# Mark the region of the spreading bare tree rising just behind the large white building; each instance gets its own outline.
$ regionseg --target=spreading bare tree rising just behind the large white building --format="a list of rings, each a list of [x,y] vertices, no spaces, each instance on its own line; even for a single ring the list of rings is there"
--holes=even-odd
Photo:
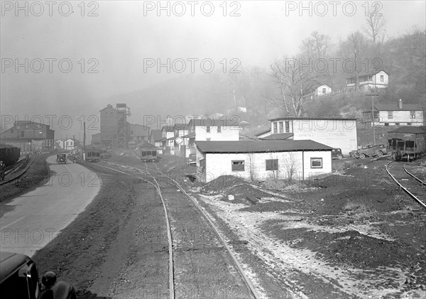
[[[316,75],[312,74],[312,70],[304,70],[295,58],[275,60],[271,70],[271,77],[278,86],[279,96],[264,97],[270,99],[288,115],[300,116],[313,88],[317,85]]]

